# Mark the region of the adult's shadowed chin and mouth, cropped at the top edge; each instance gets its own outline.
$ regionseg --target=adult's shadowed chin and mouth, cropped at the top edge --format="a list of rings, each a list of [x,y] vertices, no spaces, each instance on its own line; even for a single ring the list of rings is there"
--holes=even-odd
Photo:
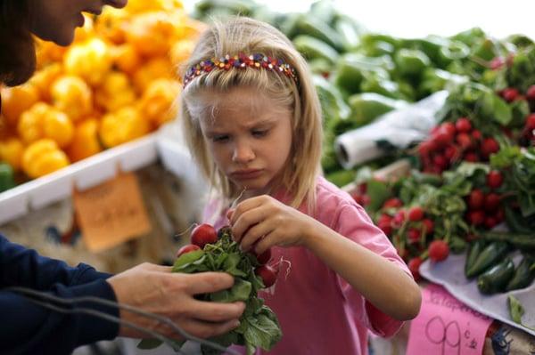
[[[74,39],[74,30],[84,26],[81,12],[99,14],[104,5],[121,8],[127,2],[128,0],[31,0],[30,11],[34,20],[29,29],[41,39],[68,45]]]

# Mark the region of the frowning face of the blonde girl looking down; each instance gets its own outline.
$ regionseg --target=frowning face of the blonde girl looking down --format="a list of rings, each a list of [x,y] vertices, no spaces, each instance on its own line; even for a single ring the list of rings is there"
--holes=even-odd
[[[236,87],[220,93],[217,107],[204,116],[202,134],[219,170],[247,196],[268,193],[290,157],[292,111],[250,87]]]

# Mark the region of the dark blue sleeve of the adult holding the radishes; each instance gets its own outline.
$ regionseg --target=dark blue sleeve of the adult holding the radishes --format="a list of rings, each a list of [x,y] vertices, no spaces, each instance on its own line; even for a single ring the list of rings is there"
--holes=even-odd
[[[72,268],[65,262],[45,258],[0,235],[0,353],[70,354],[80,345],[116,337],[119,326],[115,323],[90,315],[50,311],[3,289],[24,286],[63,298],[95,296],[116,301],[105,280],[108,277],[86,264]],[[78,306],[119,317],[116,307],[95,303]]]

